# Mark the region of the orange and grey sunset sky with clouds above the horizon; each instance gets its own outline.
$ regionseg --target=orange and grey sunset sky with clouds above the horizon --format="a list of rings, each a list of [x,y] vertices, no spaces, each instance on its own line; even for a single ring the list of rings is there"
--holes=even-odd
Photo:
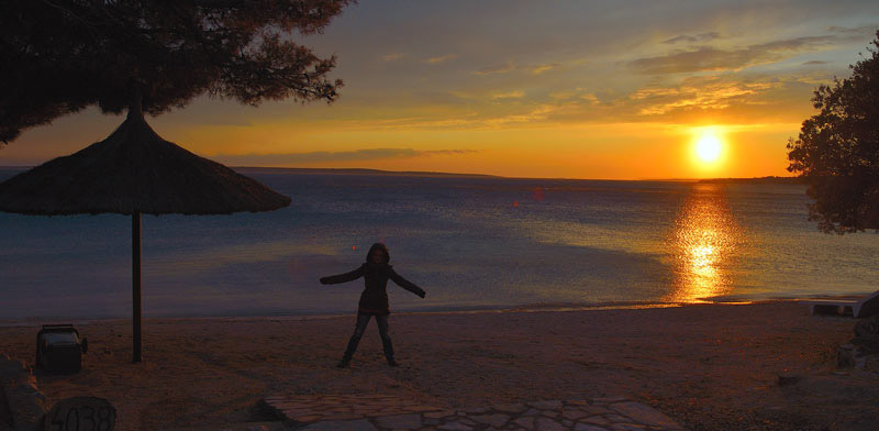
[[[877,30],[875,0],[361,0],[297,36],[337,57],[334,103],[200,97],[147,121],[230,166],[786,176],[812,92]],[[27,130],[0,166],[71,154],[123,119],[92,108]]]

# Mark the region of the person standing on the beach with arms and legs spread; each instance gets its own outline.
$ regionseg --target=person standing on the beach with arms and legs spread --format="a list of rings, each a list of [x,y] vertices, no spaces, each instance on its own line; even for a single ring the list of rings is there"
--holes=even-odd
[[[356,280],[364,277],[364,285],[366,286],[364,292],[360,294],[360,301],[357,306],[357,324],[354,327],[354,334],[348,340],[348,346],[345,349],[345,354],[340,361],[340,368],[345,368],[351,364],[351,358],[354,352],[357,351],[357,344],[366,331],[366,325],[369,323],[369,318],[376,318],[378,324],[378,333],[381,336],[381,346],[385,351],[385,358],[388,360],[388,365],[399,365],[393,360],[393,344],[388,334],[388,316],[390,314],[390,306],[388,305],[388,279],[393,280],[398,286],[407,289],[422,298],[427,292],[418,287],[414,283],[401,277],[393,270],[393,267],[388,264],[391,256],[388,247],[382,243],[375,243],[369,247],[369,253],[366,254],[366,263],[360,265],[357,269],[349,273],[322,277],[321,284],[335,285]]]

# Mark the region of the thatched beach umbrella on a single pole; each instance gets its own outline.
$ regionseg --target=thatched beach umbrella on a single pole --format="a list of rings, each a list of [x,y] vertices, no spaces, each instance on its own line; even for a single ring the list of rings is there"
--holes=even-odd
[[[132,216],[133,361],[141,361],[141,213],[229,214],[290,205],[256,180],[163,140],[138,110],[110,137],[0,184],[0,211]]]

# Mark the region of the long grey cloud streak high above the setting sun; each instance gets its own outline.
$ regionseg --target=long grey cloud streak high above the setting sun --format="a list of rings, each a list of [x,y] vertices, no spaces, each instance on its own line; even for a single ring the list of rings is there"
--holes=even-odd
[[[797,53],[815,51],[838,41],[837,36],[824,35],[775,41],[738,49],[702,46],[668,55],[638,58],[630,62],[628,66],[647,75],[738,70],[748,66],[778,62]]]

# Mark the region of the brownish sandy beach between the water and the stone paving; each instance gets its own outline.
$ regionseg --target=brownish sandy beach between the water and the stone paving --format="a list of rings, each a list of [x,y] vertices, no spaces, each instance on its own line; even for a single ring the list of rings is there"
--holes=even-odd
[[[338,369],[354,314],[147,319],[132,364],[126,320],[80,325],[85,368],[38,376],[48,399],[109,399],[119,429],[270,420],[274,394],[382,394],[448,408],[625,395],[693,430],[868,430],[879,374],[833,374],[855,320],[805,305],[391,314],[400,367],[370,322]],[[0,352],[33,361],[36,327],[0,328]],[[780,387],[778,374],[801,376]]]

